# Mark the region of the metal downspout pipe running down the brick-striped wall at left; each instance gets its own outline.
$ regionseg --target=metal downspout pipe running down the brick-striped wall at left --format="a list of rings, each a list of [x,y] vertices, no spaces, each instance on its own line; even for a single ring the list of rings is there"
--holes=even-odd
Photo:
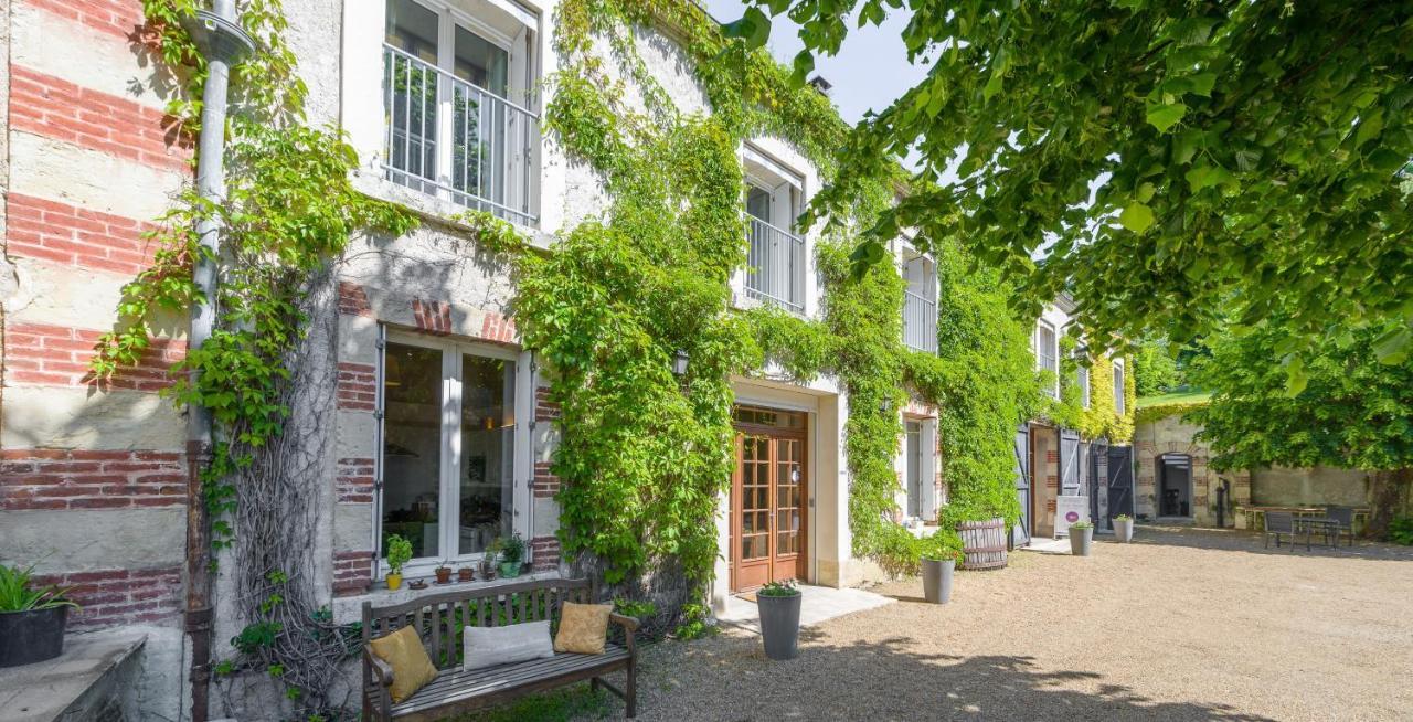
[[[254,49],[254,42],[240,28],[235,0],[213,0],[212,11],[201,10],[187,24],[196,47],[206,57],[206,83],[202,88],[201,141],[196,155],[196,192],[219,206],[226,194],[226,96],[230,66]],[[220,253],[220,222],[202,218],[196,223],[202,253],[192,263],[192,280],[205,302],[191,305],[188,352],[201,349],[215,329],[216,276]],[[201,376],[192,369],[195,387]],[[187,408],[187,600],[184,626],[191,644],[191,719],[206,722],[211,701],[212,571],[211,516],[206,509],[201,472],[211,462],[211,410],[201,404]]]

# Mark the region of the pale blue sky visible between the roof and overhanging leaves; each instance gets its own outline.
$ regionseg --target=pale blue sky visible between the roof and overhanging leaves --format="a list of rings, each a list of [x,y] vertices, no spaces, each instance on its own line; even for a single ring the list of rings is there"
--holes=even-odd
[[[722,23],[736,20],[745,13],[738,0],[705,0],[706,10]],[[897,96],[918,83],[927,73],[926,66],[907,62],[907,48],[903,47],[903,27],[907,16],[890,13],[882,25],[868,25],[853,30],[832,58],[815,57],[817,75],[834,83],[829,97],[849,123],[858,123],[863,112],[883,110]],[[798,25],[786,16],[773,18],[770,30],[770,52],[786,65],[804,47],[797,35]]]

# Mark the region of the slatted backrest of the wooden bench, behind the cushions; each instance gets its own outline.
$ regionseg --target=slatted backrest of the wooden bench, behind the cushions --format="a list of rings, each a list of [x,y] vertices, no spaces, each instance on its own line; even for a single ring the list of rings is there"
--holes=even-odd
[[[411,625],[438,670],[461,664],[463,627],[557,620],[564,602],[593,602],[588,579],[536,579],[428,595],[373,606],[363,602],[363,644]]]

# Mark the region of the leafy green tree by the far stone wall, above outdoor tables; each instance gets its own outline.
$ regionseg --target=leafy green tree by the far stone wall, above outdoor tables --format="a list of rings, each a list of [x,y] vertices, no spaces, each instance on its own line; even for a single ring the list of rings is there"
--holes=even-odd
[[[1304,389],[1287,390],[1280,350],[1290,343],[1283,318],[1242,335],[1221,333],[1212,355],[1188,374],[1212,391],[1188,418],[1202,425],[1217,469],[1340,466],[1376,473],[1375,526],[1406,496],[1413,469],[1413,360],[1379,363],[1373,332],[1330,338],[1301,372]],[[1402,487],[1402,489],[1400,489]],[[1386,499],[1385,499],[1386,496]],[[1383,519],[1378,519],[1378,517]]]

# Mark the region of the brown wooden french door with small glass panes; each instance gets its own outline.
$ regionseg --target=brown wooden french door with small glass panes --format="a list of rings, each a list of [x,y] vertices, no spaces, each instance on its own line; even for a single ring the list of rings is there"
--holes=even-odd
[[[803,579],[807,572],[804,414],[736,413],[731,485],[731,589]]]

